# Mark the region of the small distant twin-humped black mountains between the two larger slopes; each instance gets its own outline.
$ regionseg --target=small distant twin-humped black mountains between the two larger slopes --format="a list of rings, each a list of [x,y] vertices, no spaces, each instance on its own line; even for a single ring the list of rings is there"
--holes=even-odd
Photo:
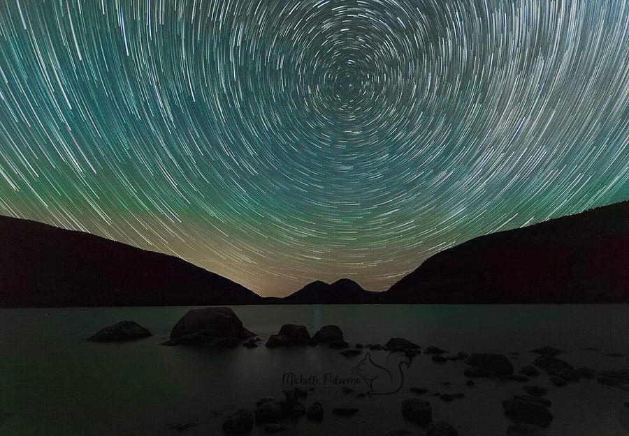
[[[370,303],[377,292],[369,292],[354,280],[342,278],[328,284],[319,280],[308,283],[293,294],[283,299],[276,299],[275,303],[282,304],[350,304]]]

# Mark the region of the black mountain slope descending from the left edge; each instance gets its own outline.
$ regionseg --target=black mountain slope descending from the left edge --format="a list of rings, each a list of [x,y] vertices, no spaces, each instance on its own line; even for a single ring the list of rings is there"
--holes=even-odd
[[[0,216],[0,306],[205,306],[262,300],[178,257]]]

